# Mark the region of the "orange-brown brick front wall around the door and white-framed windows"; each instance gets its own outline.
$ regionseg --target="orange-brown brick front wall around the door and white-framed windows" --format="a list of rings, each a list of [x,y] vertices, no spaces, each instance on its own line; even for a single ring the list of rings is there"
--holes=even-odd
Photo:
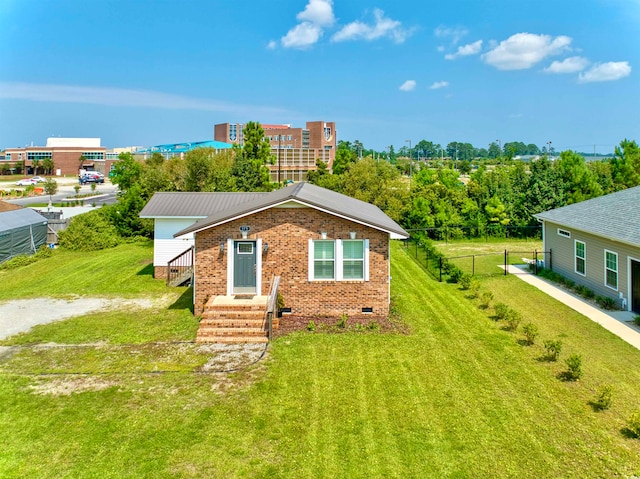
[[[280,293],[293,315],[362,316],[363,307],[373,308],[375,316],[388,314],[387,233],[312,208],[271,208],[196,233],[196,315],[209,297],[227,293],[227,261],[233,252],[226,250],[226,241],[241,239],[242,225],[251,227],[248,239],[269,244],[268,252],[257,252],[262,255],[262,294],[268,294],[272,276],[280,276]],[[309,239],[321,239],[321,231],[327,239],[349,239],[355,231],[358,239],[369,240],[369,281],[309,281]]]

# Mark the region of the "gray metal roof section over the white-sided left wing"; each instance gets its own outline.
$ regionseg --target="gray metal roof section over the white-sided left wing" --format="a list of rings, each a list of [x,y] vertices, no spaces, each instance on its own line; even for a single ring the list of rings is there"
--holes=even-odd
[[[246,203],[267,193],[159,192],[140,212],[141,218],[202,217]]]

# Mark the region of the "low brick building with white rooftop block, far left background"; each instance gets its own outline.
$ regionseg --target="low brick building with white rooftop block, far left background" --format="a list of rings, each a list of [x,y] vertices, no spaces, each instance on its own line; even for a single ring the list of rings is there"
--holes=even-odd
[[[52,174],[75,175],[80,169],[80,157],[84,157],[82,168],[108,173],[113,159],[107,159],[107,149],[100,146],[100,138],[47,138],[46,146],[7,148],[4,162],[15,168],[24,162],[27,173],[33,173],[33,162],[53,161]]]

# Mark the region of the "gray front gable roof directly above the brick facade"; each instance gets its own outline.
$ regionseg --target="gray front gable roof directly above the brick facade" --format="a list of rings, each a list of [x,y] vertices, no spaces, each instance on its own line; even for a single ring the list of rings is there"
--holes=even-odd
[[[398,237],[407,238],[409,236],[398,223],[384,214],[377,206],[336,193],[335,191],[320,188],[310,183],[301,182],[272,191],[271,193],[263,193],[245,203],[212,213],[206,219],[197,221],[192,226],[179,231],[174,237],[226,223],[237,217],[246,216],[288,201],[295,201],[312,208],[324,210],[337,216],[345,217],[351,221],[397,235]]]

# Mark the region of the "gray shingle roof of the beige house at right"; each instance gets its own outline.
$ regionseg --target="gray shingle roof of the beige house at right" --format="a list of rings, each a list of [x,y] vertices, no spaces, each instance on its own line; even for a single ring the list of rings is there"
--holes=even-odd
[[[640,246],[640,186],[534,216],[585,233]]]

